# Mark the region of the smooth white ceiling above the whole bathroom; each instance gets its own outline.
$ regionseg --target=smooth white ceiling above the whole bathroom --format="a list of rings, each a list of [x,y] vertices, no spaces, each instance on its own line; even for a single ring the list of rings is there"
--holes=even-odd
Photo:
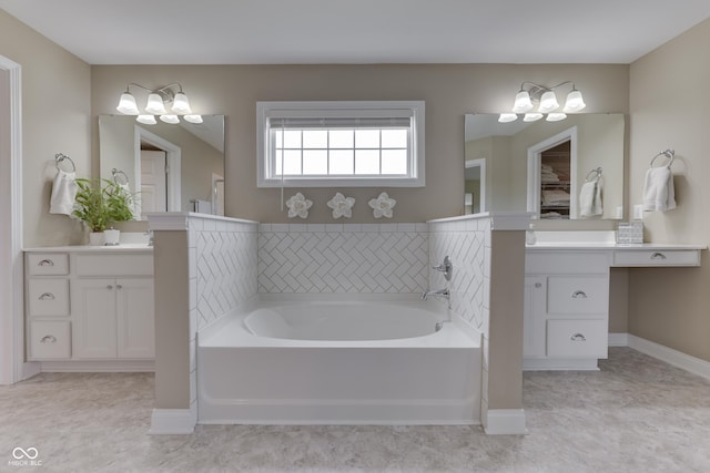
[[[90,64],[622,63],[708,0],[0,0]]]

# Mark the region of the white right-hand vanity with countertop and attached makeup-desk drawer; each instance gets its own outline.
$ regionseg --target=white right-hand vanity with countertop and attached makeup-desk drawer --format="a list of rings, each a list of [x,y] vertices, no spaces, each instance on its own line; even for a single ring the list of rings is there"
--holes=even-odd
[[[570,241],[527,246],[523,368],[596,370],[608,356],[610,268],[700,266],[701,249]]]

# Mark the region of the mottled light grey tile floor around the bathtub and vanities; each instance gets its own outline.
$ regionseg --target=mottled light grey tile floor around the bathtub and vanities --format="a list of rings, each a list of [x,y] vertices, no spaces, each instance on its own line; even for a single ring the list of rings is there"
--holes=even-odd
[[[610,349],[600,372],[525,373],[528,435],[205,425],[156,436],[152,394],[146,373],[0,387],[0,472],[710,472],[710,382],[628,348]],[[13,464],[17,446],[41,465]]]

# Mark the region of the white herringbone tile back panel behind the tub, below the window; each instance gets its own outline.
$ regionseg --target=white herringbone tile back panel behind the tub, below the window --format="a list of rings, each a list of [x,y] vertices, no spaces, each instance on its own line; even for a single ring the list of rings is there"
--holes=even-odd
[[[426,224],[263,224],[260,292],[420,292]]]

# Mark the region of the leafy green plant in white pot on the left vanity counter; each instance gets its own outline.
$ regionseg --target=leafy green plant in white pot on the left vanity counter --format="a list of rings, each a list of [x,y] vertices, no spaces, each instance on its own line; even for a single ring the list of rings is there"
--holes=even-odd
[[[72,215],[89,227],[91,245],[102,245],[103,232],[115,222],[133,219],[133,197],[109,179],[77,179]]]

